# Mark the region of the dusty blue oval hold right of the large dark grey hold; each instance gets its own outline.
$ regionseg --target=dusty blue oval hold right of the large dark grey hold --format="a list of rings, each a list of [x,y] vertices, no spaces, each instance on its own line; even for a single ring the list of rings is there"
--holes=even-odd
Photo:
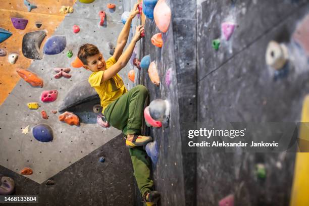
[[[65,36],[52,36],[47,39],[44,45],[44,54],[57,55],[61,53],[67,45],[67,39]]]

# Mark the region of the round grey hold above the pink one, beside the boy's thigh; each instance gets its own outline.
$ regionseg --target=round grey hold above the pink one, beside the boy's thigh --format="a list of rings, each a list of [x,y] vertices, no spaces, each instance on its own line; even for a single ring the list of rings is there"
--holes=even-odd
[[[152,100],[149,105],[149,113],[152,119],[167,123],[170,118],[170,104],[163,99]]]

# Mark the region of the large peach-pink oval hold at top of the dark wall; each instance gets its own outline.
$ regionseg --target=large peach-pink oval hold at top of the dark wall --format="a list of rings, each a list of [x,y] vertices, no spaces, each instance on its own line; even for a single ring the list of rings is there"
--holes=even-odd
[[[153,9],[153,18],[160,31],[164,33],[167,32],[170,26],[171,16],[171,9],[166,4],[165,0],[159,0],[155,9]]]

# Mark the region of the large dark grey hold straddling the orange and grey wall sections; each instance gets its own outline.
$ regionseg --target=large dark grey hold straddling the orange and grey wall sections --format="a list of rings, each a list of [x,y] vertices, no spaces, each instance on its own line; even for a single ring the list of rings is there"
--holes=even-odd
[[[46,32],[43,30],[26,33],[22,43],[23,55],[28,59],[41,60],[43,54],[40,52],[40,46],[45,36]]]

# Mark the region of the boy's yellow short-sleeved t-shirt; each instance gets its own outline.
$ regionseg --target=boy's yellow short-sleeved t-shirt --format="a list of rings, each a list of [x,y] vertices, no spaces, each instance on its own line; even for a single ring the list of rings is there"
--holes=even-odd
[[[109,69],[115,63],[116,60],[112,56],[106,61],[106,68]],[[122,94],[128,91],[119,74],[116,74],[111,79],[100,84],[104,71],[93,72],[88,78],[91,87],[95,89],[100,97],[101,107],[103,108],[102,113],[104,113],[105,109],[112,101],[118,99]]]

